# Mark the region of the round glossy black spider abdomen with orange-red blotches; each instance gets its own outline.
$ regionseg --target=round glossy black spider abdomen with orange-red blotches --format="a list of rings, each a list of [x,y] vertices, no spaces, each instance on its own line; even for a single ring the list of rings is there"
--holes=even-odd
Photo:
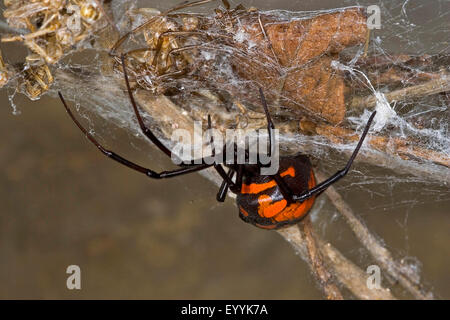
[[[316,185],[311,163],[305,155],[281,157],[279,175],[293,194],[299,195]],[[237,196],[239,217],[263,229],[277,229],[297,223],[311,209],[315,197],[301,203],[288,201],[273,176],[247,176]]]

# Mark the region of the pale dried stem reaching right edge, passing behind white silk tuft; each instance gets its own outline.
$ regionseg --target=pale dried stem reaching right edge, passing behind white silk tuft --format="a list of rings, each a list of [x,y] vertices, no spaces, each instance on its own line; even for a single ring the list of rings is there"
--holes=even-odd
[[[404,101],[425,97],[441,92],[450,91],[450,76],[442,75],[439,79],[433,79],[425,83],[385,93],[388,102]],[[349,109],[362,110],[374,108],[377,104],[375,96],[354,97],[349,104]]]

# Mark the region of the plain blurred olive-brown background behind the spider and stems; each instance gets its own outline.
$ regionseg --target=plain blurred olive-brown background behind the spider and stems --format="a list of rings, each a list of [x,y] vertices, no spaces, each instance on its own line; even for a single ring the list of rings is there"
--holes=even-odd
[[[138,3],[167,9],[177,2]],[[449,13],[446,1],[406,2],[413,8],[428,4],[424,11],[411,11],[416,24]],[[232,5],[239,3],[263,10],[366,5],[322,0]],[[402,3],[395,8],[401,10]],[[17,45],[1,49],[8,61],[24,55]],[[217,203],[211,182],[198,174],[146,179],[102,156],[54,97],[31,102],[18,94],[20,114],[13,115],[8,100],[13,90],[0,91],[0,298],[322,298],[289,244],[275,232],[243,223],[232,199]],[[107,123],[99,126],[107,128],[102,137],[111,149],[153,169],[171,168],[145,141]],[[329,174],[338,169],[326,168]],[[419,268],[436,296],[448,299],[448,186],[400,178],[356,165],[337,187],[395,256]],[[326,196],[317,201],[313,220],[321,236],[363,269],[374,264]],[[81,267],[81,290],[66,288],[72,264]]]

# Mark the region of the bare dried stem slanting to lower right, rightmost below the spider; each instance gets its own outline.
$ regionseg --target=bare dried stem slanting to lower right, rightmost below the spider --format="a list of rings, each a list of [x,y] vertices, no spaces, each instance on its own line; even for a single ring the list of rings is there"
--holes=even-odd
[[[316,171],[316,176],[319,180],[324,180],[326,177],[321,172]],[[386,270],[395,280],[408,290],[416,299],[432,299],[433,294],[431,292],[425,292],[420,283],[411,279],[411,276],[405,273],[406,268],[395,261],[392,254],[386,247],[369,231],[369,229],[355,216],[353,210],[348,206],[340,194],[334,187],[329,187],[325,194],[331,200],[333,205],[344,216],[346,222],[358,238],[358,240],[364,245],[364,247],[370,252],[372,257]],[[418,278],[417,275],[414,275]]]

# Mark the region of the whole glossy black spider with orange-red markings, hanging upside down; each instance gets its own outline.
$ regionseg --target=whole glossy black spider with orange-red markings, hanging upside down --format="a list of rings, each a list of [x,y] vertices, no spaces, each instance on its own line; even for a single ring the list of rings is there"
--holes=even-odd
[[[163,153],[171,157],[171,151],[164,146],[164,144],[162,144],[162,142],[144,124],[130,87],[125,66],[125,59],[123,56],[122,66],[129,99],[143,134]],[[279,158],[278,172],[274,175],[261,175],[260,169],[263,165],[259,163],[236,164],[236,161],[232,164],[224,163],[224,166],[228,168],[228,172],[225,172],[222,164],[206,162],[206,158],[202,159],[201,164],[194,164],[194,161],[191,161],[191,163],[188,164],[181,164],[181,168],[176,170],[155,172],[151,169],[131,162],[113,151],[105,149],[74,117],[62,94],[58,92],[58,95],[64,104],[67,113],[78,128],[107,157],[153,179],[177,177],[213,167],[223,179],[222,185],[217,193],[217,200],[220,202],[225,201],[225,197],[229,189],[237,195],[236,201],[239,208],[239,217],[245,222],[251,223],[263,229],[277,229],[283,226],[295,224],[306,216],[314,204],[315,198],[330,185],[343,178],[350,170],[353,160],[358,154],[376,114],[376,112],[373,112],[370,116],[361,138],[347,162],[347,165],[343,169],[337,171],[330,178],[316,185],[311,162],[309,161],[309,158],[303,154],[281,156]],[[275,129],[275,126],[270,117],[267,103],[261,89],[260,95],[268,124],[267,130],[270,141],[269,152],[272,152],[273,130]],[[209,116],[208,127],[209,129],[211,128],[211,118]],[[212,139],[211,142],[213,142]],[[236,157],[235,143],[234,152],[234,156]],[[215,155],[214,149],[212,150],[212,154],[213,156]],[[233,180],[235,173],[236,178]]]

